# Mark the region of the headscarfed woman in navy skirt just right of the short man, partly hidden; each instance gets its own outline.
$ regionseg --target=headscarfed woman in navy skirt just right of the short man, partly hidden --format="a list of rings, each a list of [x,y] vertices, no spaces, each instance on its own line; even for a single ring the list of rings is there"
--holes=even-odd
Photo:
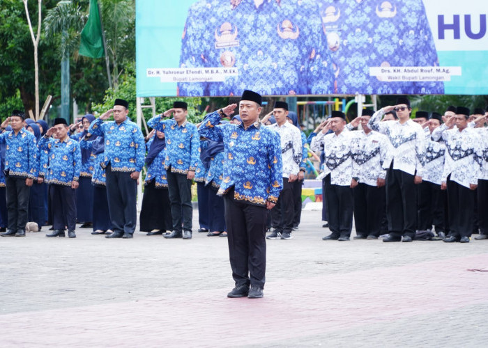
[[[87,113],[82,118],[83,132],[71,136],[76,141],[81,141],[88,133],[91,122],[95,120],[95,116]],[[71,130],[71,129],[70,129]],[[95,139],[91,138],[91,141]],[[77,221],[82,223],[81,228],[93,227],[93,189],[91,188],[91,177],[93,176],[93,157],[91,157],[91,149],[82,148],[82,172],[79,175],[79,187],[76,190],[76,212]]]

